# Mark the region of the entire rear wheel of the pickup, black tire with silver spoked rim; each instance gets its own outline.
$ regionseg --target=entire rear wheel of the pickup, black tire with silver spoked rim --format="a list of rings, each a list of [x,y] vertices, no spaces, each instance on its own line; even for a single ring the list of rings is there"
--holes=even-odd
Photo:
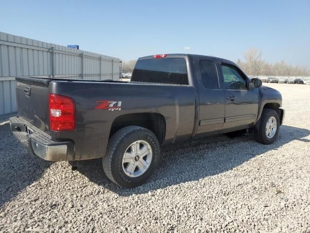
[[[135,149],[137,152],[131,149],[132,145],[138,145]],[[141,151],[145,152],[147,149],[147,155],[140,157],[140,154],[143,154]],[[124,157],[125,152],[127,157]],[[128,157],[129,154],[131,157]],[[123,159],[130,162],[124,163]],[[141,159],[145,160],[145,163]],[[132,188],[146,182],[153,174],[159,161],[160,145],[155,134],[140,126],[126,126],[109,139],[102,164],[104,172],[111,181],[122,187]],[[129,165],[131,168],[133,166],[135,168],[132,170],[128,168]]]

